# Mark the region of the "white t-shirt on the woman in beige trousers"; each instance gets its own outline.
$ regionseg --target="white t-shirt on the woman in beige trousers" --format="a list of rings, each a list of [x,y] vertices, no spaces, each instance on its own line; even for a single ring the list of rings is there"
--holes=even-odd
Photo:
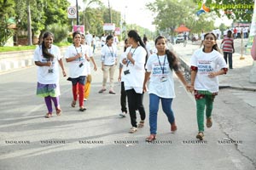
[[[117,58],[117,48],[115,46],[109,47],[105,44],[102,47],[102,62],[104,65],[114,65]]]

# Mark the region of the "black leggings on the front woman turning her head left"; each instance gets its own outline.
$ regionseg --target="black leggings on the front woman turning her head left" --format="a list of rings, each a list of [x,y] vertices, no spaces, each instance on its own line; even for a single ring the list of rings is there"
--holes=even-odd
[[[133,88],[131,90],[126,90],[126,94],[128,98],[131,126],[137,127],[136,110],[139,111],[142,121],[144,121],[146,118],[146,113],[143,106],[143,94],[137,94]]]

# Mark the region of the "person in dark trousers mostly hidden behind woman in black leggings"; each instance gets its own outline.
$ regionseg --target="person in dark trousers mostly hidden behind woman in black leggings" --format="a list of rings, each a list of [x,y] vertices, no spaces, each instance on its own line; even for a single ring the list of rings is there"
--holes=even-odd
[[[126,107],[126,92],[125,92],[125,77],[123,70],[125,69],[125,65],[122,64],[122,59],[125,58],[125,51],[126,48],[130,47],[130,44],[128,43],[128,39],[125,39],[125,47],[124,47],[124,53],[120,57],[119,61],[119,78],[118,81],[121,82],[121,95],[120,95],[120,105],[121,105],[121,113],[119,116],[125,117],[127,114],[127,107]],[[126,70],[126,69],[125,69]]]

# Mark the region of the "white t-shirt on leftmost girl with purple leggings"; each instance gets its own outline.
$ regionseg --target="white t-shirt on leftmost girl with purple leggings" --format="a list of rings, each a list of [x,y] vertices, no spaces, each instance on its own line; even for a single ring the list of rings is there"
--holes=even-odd
[[[38,82],[42,84],[55,84],[59,83],[59,63],[61,57],[60,48],[55,45],[51,45],[51,48],[48,50],[50,54],[53,54],[55,57],[52,60],[51,66],[38,66]],[[42,46],[38,46],[34,52],[34,61],[40,61],[46,63],[48,59],[43,57]]]

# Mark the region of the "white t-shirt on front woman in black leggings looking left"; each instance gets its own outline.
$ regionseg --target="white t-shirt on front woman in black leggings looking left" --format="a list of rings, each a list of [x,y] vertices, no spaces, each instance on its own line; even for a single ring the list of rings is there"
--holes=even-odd
[[[125,90],[134,88],[137,94],[143,94],[143,82],[145,77],[144,65],[147,52],[142,46],[138,46],[137,48],[129,47],[125,51],[124,58],[126,58],[127,54],[130,52],[132,58],[135,60],[135,64],[133,65],[128,61],[128,66],[126,65],[126,68],[123,69],[123,71],[129,70],[130,72],[130,74],[124,75]]]

